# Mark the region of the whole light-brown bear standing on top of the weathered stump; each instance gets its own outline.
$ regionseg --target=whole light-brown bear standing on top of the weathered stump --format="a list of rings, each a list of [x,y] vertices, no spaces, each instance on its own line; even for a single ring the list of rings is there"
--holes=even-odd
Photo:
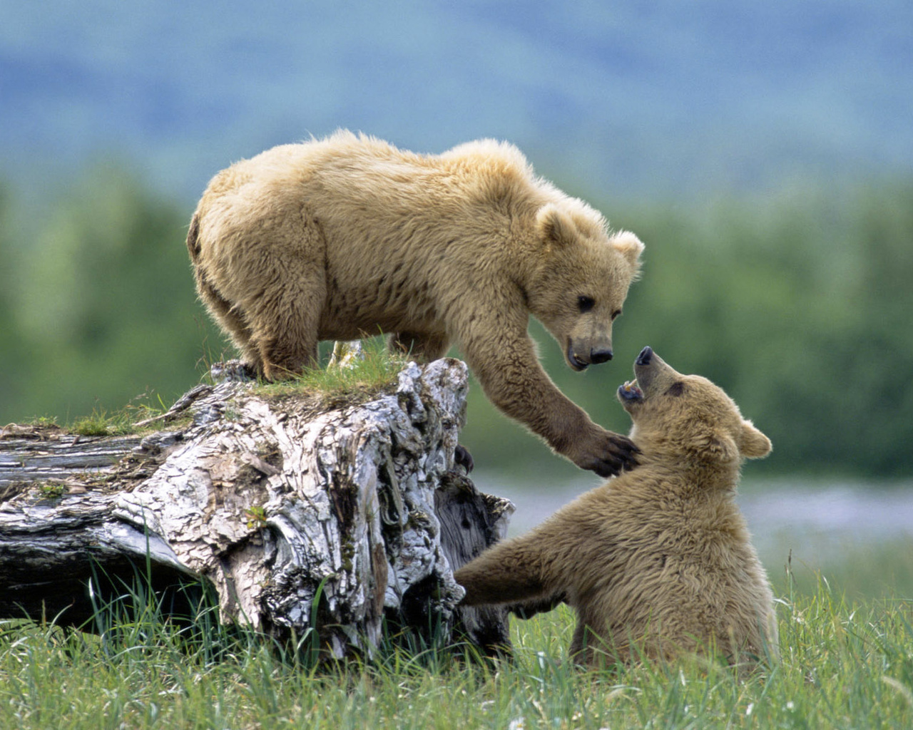
[[[572,370],[612,359],[643,243],[538,177],[507,142],[438,155],[339,130],[218,172],[187,235],[197,292],[267,380],[318,342],[390,333],[419,361],[461,350],[488,399],[602,476],[636,463],[551,382],[530,316]]]

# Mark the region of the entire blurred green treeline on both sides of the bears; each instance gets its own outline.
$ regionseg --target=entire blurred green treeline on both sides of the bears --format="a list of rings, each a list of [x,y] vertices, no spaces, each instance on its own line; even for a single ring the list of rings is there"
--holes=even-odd
[[[169,404],[232,354],[194,297],[194,201],[164,200],[118,166],[25,212],[3,190],[0,424],[63,423],[136,396]],[[771,437],[774,454],[752,469],[913,474],[913,181],[699,205],[575,192],[646,244],[613,362],[572,373],[531,328],[552,378],[594,420],[627,430],[614,391],[648,344],[718,382]],[[477,464],[576,473],[477,386],[463,440]]]

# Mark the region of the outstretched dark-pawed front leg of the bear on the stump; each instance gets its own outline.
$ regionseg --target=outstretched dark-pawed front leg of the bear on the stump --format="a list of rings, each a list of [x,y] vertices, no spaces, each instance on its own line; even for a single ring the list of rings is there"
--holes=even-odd
[[[637,464],[633,442],[593,423],[555,387],[525,333],[497,346],[470,340],[464,350],[488,399],[580,468],[611,476]]]

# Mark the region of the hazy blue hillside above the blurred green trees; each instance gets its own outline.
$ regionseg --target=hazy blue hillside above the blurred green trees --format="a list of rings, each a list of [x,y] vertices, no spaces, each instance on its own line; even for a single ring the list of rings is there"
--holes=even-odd
[[[576,192],[687,197],[913,170],[913,4],[0,5],[0,178],[100,154],[192,200],[337,127],[492,136]]]

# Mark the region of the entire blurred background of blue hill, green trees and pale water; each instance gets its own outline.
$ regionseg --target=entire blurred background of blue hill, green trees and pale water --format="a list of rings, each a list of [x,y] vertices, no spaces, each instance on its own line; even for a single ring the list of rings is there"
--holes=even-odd
[[[774,443],[740,497],[771,575],[913,595],[911,68],[907,0],[5,3],[0,424],[167,405],[234,355],[184,246],[230,162],[495,137],[646,244],[611,363],[532,325],[561,390],[626,432],[643,346],[708,376]],[[463,439],[515,531],[599,482],[477,386]]]

